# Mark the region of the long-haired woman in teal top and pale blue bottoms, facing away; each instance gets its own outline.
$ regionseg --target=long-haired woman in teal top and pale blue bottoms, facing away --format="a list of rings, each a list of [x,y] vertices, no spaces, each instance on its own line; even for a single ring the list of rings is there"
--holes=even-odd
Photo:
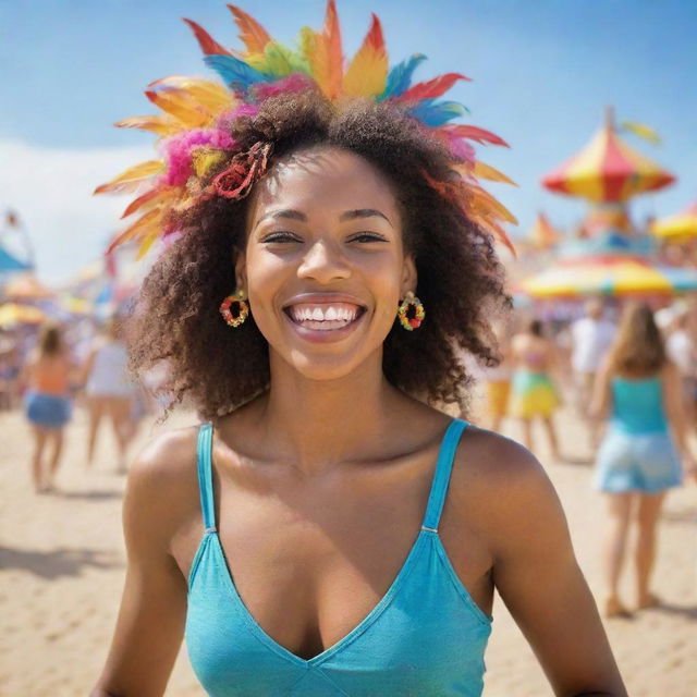
[[[608,508],[603,611],[607,617],[631,616],[617,588],[632,518],[638,527],[635,570],[636,608],[640,610],[660,602],[650,590],[657,523],[667,490],[683,482],[681,456],[697,480],[686,438],[680,372],[667,358],[648,305],[625,307],[617,335],[596,377],[590,414],[595,419],[609,417],[592,479],[592,486],[607,497]]]

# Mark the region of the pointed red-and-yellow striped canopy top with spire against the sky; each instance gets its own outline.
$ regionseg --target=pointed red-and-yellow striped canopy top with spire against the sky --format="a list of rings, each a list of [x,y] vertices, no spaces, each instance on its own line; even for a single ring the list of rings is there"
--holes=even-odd
[[[606,125],[577,155],[542,179],[553,192],[582,196],[594,203],[622,203],[657,191],[675,178],[629,148],[614,130],[612,111]]]

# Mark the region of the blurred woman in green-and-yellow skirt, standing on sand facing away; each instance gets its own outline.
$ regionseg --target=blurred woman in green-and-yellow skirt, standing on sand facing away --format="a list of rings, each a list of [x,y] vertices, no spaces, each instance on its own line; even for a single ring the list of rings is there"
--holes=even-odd
[[[539,417],[549,438],[552,457],[559,460],[561,454],[552,415],[561,399],[550,372],[558,370],[560,358],[557,346],[545,335],[541,320],[533,319],[525,331],[513,337],[511,353],[514,365],[511,415],[521,420],[523,443],[534,451],[533,419]]]

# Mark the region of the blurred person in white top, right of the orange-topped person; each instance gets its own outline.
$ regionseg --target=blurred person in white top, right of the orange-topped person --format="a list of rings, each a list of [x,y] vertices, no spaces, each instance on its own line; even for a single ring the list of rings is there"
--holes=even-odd
[[[109,319],[93,342],[83,367],[83,382],[89,413],[87,466],[94,462],[99,426],[108,417],[117,438],[117,472],[123,474],[127,448],[136,430],[132,419],[135,384],[129,374],[129,353],[121,340],[119,322],[117,317]]]

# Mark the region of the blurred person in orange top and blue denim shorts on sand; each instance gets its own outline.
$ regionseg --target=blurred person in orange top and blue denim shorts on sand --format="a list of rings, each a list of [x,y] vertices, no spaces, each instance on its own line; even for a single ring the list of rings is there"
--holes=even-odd
[[[36,348],[19,376],[21,389],[25,390],[25,415],[34,437],[32,477],[37,493],[54,490],[63,451],[63,430],[72,416],[70,380],[73,369],[61,329],[57,325],[45,325]],[[45,464],[47,447],[52,452],[48,464]]]

